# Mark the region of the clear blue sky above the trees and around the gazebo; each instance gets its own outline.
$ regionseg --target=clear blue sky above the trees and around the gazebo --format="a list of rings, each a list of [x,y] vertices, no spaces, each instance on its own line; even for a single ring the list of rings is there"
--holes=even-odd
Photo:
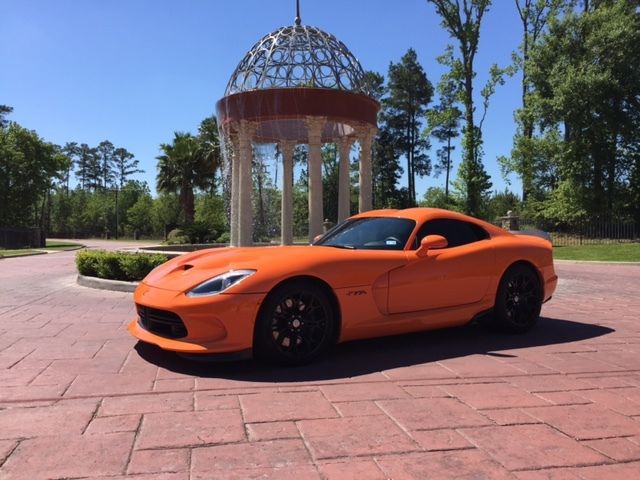
[[[426,0],[302,0],[301,16],[385,76],[389,62],[413,47],[434,85],[442,73],[435,58],[453,42]],[[0,104],[48,141],[108,139],[127,148],[146,171],[138,178],[154,190],[158,145],[176,130],[195,132],[246,51],[294,17],[293,0],[0,0]],[[509,63],[519,41],[514,2],[494,0],[481,31],[476,92],[489,66]],[[511,150],[519,102],[518,74],[498,89],[485,121],[484,162],[498,190],[505,181],[496,157]],[[458,163],[459,148],[454,155]],[[443,182],[418,181],[418,196]]]

